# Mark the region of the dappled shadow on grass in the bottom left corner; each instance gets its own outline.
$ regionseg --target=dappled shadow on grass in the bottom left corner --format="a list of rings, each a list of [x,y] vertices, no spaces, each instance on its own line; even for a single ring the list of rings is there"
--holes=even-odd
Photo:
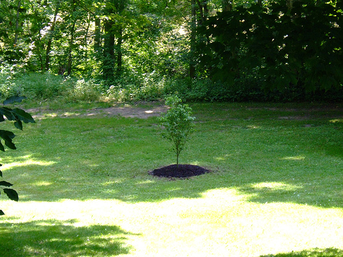
[[[113,256],[128,254],[129,232],[113,225],[74,226],[75,220],[0,223],[0,256]]]

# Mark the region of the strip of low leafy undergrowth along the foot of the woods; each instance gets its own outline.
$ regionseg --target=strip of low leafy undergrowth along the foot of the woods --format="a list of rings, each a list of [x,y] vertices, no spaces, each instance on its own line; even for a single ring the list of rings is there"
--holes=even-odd
[[[0,71],[0,97],[25,96],[29,100],[58,99],[71,101],[157,101],[178,94],[185,101],[343,101],[343,87],[325,92],[306,92],[301,87],[289,86],[283,90],[262,88],[261,79],[245,76],[232,85],[210,79],[167,77],[154,73],[124,74],[112,85],[82,77],[62,77],[51,73],[22,73],[15,66],[3,66]]]

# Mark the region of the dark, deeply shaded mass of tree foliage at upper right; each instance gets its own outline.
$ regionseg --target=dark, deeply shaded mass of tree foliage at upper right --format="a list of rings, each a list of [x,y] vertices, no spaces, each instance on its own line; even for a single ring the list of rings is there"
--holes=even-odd
[[[234,84],[254,74],[264,88],[340,88],[342,3],[283,1],[218,12],[202,29],[200,63],[213,78]]]

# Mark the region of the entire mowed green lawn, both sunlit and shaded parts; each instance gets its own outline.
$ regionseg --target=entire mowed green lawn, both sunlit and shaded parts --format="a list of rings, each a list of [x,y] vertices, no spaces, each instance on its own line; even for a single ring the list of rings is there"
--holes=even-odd
[[[191,107],[180,162],[212,172],[185,180],[148,174],[176,161],[156,117],[51,110],[16,131],[0,256],[343,256],[342,105]]]

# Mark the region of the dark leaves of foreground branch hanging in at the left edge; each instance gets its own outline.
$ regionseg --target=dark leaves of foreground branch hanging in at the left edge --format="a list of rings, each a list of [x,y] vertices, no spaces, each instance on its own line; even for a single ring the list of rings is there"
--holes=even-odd
[[[15,101],[21,101],[23,97],[10,97],[6,99],[3,104],[8,103],[14,103]],[[19,130],[23,130],[23,122],[24,123],[34,123],[34,119],[32,118],[31,114],[25,112],[25,110],[21,110],[18,108],[7,108],[7,107],[1,107],[0,108],[0,122],[5,121],[5,118],[8,121],[14,121],[14,127],[16,127]],[[8,130],[0,130],[0,150],[5,151],[5,147],[3,145],[3,142],[5,145],[10,149],[16,149],[16,146],[12,142],[12,139],[14,138],[14,133],[10,132]],[[0,164],[2,166],[2,164]],[[2,172],[0,171],[0,177],[2,177]],[[3,190],[3,193],[8,196],[13,201],[18,201],[19,196],[18,193],[12,188],[13,186],[10,182],[7,181],[0,181],[0,188]],[[1,191],[0,191],[1,195]],[[0,215],[4,215],[5,213],[0,210]]]

